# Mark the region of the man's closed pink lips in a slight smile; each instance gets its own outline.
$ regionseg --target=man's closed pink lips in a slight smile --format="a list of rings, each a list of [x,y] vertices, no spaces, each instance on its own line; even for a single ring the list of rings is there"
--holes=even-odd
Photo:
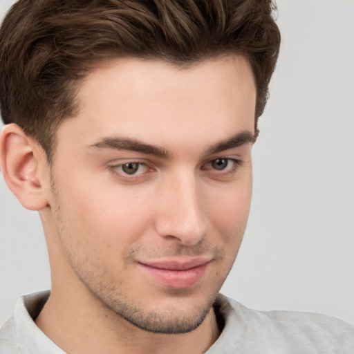
[[[190,288],[203,278],[210,259],[165,260],[138,263],[151,277],[169,288]]]

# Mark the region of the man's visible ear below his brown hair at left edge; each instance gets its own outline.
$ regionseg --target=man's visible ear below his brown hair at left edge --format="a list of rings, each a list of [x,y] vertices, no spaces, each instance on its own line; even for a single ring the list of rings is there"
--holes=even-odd
[[[3,127],[0,135],[3,177],[26,209],[48,206],[46,192],[50,180],[46,154],[17,124]]]

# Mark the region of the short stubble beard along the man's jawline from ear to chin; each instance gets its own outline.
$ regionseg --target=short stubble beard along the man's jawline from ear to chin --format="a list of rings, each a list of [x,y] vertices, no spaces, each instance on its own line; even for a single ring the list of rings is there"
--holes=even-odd
[[[109,312],[118,315],[120,319],[129,322],[129,324],[133,324],[133,326],[150,333],[169,335],[188,333],[195,330],[203,323],[205,317],[212,309],[218,291],[232,268],[236,254],[230,264],[230,268],[227,272],[224,271],[225,276],[221,279],[219,277],[217,283],[211,284],[214,291],[209,292],[203,304],[199,303],[198,307],[194,308],[192,313],[189,311],[188,314],[185,314],[183,311],[179,311],[173,306],[161,311],[147,311],[144,308],[143,302],[134,304],[127,294],[124,294],[124,289],[121,288],[122,284],[116,284],[113,277],[110,277],[109,272],[104,271],[99,257],[92,257],[92,254],[89,254],[89,252],[84,254],[81,247],[82,245],[74,244],[73,239],[75,238],[71,237],[70,223],[66,223],[66,220],[62,216],[58,203],[57,189],[55,189],[54,183],[52,190],[56,201],[53,214],[55,215],[57,232],[62,239],[62,248],[66,253],[68,263],[71,265],[76,277],[84,284],[88,292],[100,302],[101,306],[109,310]],[[205,249],[205,247],[201,246],[200,250],[194,253],[203,254],[204,251],[202,249]],[[217,257],[223,257],[223,250],[216,251],[216,258]],[[218,276],[218,274],[216,274],[216,276]],[[137,289],[137,291],[139,291],[139,289]],[[188,292],[193,292],[193,290],[171,289],[170,292],[171,297],[178,298],[184,297]]]

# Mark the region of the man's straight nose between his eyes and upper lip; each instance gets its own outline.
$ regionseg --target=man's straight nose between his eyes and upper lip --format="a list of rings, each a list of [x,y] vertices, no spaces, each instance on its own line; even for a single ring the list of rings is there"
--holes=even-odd
[[[160,186],[161,187],[161,186]],[[180,173],[164,183],[158,192],[156,230],[167,239],[195,245],[205,237],[207,218],[201,187],[193,173]]]

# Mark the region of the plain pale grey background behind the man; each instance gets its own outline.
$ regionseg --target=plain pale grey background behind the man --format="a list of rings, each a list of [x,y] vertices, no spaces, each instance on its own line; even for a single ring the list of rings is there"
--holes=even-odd
[[[13,1],[0,0],[0,16]],[[354,1],[280,0],[283,42],[254,146],[248,230],[223,292],[354,323]],[[50,287],[39,216],[0,176],[0,325]]]

